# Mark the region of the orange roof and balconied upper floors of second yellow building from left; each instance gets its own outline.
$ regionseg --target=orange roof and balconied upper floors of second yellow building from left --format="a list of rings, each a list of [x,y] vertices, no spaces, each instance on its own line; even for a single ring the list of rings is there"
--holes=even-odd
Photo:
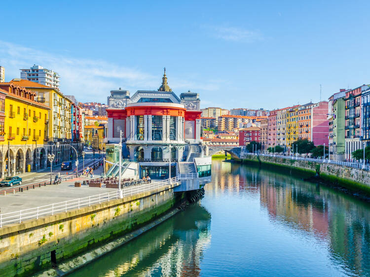
[[[23,79],[13,79],[11,82],[35,92],[37,102],[51,108],[48,140],[70,142],[72,138],[72,101],[57,88]]]

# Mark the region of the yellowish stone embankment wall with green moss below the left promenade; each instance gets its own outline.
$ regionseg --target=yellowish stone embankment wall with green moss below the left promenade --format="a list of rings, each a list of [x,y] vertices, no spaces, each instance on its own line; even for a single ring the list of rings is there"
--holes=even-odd
[[[174,185],[167,185],[123,199],[3,226],[0,276],[30,276],[52,265],[57,273],[58,265],[75,255],[138,230],[171,211],[185,198],[185,193],[174,193],[173,188]],[[74,264],[69,263],[68,267],[71,270]]]

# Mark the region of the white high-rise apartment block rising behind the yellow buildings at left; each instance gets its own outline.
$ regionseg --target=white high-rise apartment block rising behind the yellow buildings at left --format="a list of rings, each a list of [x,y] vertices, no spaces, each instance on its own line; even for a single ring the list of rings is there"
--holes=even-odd
[[[44,86],[59,89],[59,74],[50,69],[34,65],[30,69],[21,70],[21,79],[33,81]]]

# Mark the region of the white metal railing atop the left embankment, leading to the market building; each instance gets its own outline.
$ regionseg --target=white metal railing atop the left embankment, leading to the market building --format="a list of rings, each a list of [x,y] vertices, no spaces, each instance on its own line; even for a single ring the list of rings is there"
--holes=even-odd
[[[164,185],[176,183],[182,179],[195,179],[198,178],[198,173],[180,174],[171,179],[163,181],[152,182],[148,184],[135,185],[125,187],[122,189],[123,197],[135,195],[140,192],[149,191],[152,189],[163,187]],[[101,204],[106,201],[119,198],[119,190],[101,193],[97,195],[87,196],[83,198],[77,198],[59,203],[53,203],[45,206],[39,206],[36,208],[23,209],[19,211],[13,211],[8,213],[0,214],[0,228],[6,224],[21,223],[27,219],[38,219],[41,216],[53,215],[58,212],[66,212],[71,209],[88,207],[93,204]]]

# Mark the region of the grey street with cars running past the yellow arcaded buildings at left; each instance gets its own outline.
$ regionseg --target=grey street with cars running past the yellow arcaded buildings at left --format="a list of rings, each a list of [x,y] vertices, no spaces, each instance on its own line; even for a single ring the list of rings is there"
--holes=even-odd
[[[85,150],[85,167],[90,166],[94,163],[93,152],[91,150]],[[103,154],[95,153],[95,162],[99,161],[100,158],[103,158]],[[73,161],[73,167],[70,171],[61,171],[61,166],[55,166],[52,169],[52,180],[54,180],[56,174],[60,174],[60,176],[67,177],[75,174],[75,161]],[[80,157],[78,159],[78,172],[81,172],[83,169],[83,159]],[[23,187],[29,184],[40,183],[40,182],[50,182],[50,168],[43,169],[39,172],[30,172],[30,173],[23,173],[19,174],[19,177],[22,178],[22,185],[21,186],[14,186],[14,187]],[[0,187],[0,194],[1,191],[9,189],[9,187]]]

